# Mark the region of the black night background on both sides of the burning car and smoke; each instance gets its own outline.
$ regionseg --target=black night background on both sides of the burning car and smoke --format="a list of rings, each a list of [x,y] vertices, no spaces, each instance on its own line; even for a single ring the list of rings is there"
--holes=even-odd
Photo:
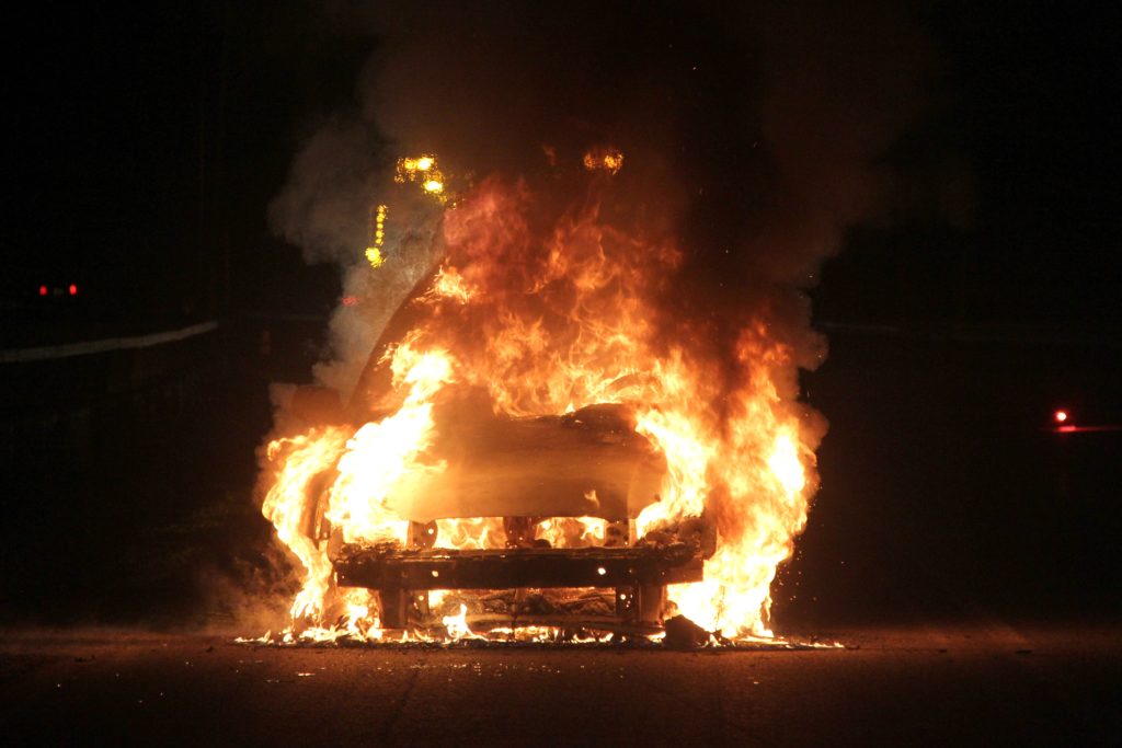
[[[1118,612],[1122,434],[1049,431],[1057,407],[1122,424],[1118,24],[976,4],[914,11],[937,105],[881,157],[905,187],[888,215],[850,229],[811,292],[831,352],[803,384],[831,426],[780,629]],[[377,39],[316,3],[13,28],[2,348],[222,325],[0,363],[0,621],[229,618],[274,581],[251,500],[267,385],[309,378],[340,293],[270,234],[267,204],[355,107]],[[947,154],[964,221],[935,207]]]

